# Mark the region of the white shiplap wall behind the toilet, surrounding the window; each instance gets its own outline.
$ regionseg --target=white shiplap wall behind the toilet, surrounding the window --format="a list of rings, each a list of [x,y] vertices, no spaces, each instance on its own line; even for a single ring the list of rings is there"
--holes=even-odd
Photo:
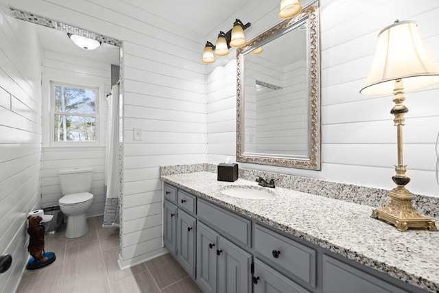
[[[49,143],[50,82],[99,88],[99,146],[51,147]],[[104,165],[107,122],[106,95],[111,91],[111,65],[54,51],[43,51],[43,207],[58,205],[62,197],[58,171],[71,167],[93,167],[93,204],[87,215],[102,215],[105,207]]]

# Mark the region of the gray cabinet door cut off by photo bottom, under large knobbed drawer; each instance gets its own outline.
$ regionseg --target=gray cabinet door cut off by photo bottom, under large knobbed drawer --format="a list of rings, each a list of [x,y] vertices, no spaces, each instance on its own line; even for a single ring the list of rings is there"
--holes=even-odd
[[[254,293],[309,293],[259,259],[254,260]],[[355,291],[353,291],[355,292]]]

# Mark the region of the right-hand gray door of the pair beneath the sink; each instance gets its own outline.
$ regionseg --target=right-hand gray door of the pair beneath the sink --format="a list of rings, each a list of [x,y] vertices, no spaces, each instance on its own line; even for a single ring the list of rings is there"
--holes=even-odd
[[[221,236],[218,237],[217,246],[218,292],[251,292],[250,263],[252,256]]]

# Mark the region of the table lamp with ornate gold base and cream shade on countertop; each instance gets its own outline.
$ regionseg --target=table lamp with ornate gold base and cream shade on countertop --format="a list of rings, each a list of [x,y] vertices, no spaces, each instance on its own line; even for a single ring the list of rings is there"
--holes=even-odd
[[[375,58],[366,86],[360,93],[383,95],[393,93],[395,103],[390,113],[394,115],[397,131],[398,165],[392,177],[396,187],[389,191],[387,206],[375,209],[371,217],[394,224],[399,231],[408,228],[428,228],[437,231],[435,221],[420,215],[413,207],[415,196],[405,189],[410,178],[405,175],[403,163],[403,126],[408,108],[403,104],[404,92],[416,91],[439,83],[439,70],[427,51],[414,21],[395,21],[378,35]]]

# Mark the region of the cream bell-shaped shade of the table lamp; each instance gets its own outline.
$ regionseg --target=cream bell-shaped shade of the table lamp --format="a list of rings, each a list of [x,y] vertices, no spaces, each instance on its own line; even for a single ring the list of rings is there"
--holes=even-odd
[[[416,91],[439,82],[439,71],[414,21],[396,22],[379,33],[372,68],[360,93],[393,93],[394,81],[399,79],[403,81],[404,91]]]

